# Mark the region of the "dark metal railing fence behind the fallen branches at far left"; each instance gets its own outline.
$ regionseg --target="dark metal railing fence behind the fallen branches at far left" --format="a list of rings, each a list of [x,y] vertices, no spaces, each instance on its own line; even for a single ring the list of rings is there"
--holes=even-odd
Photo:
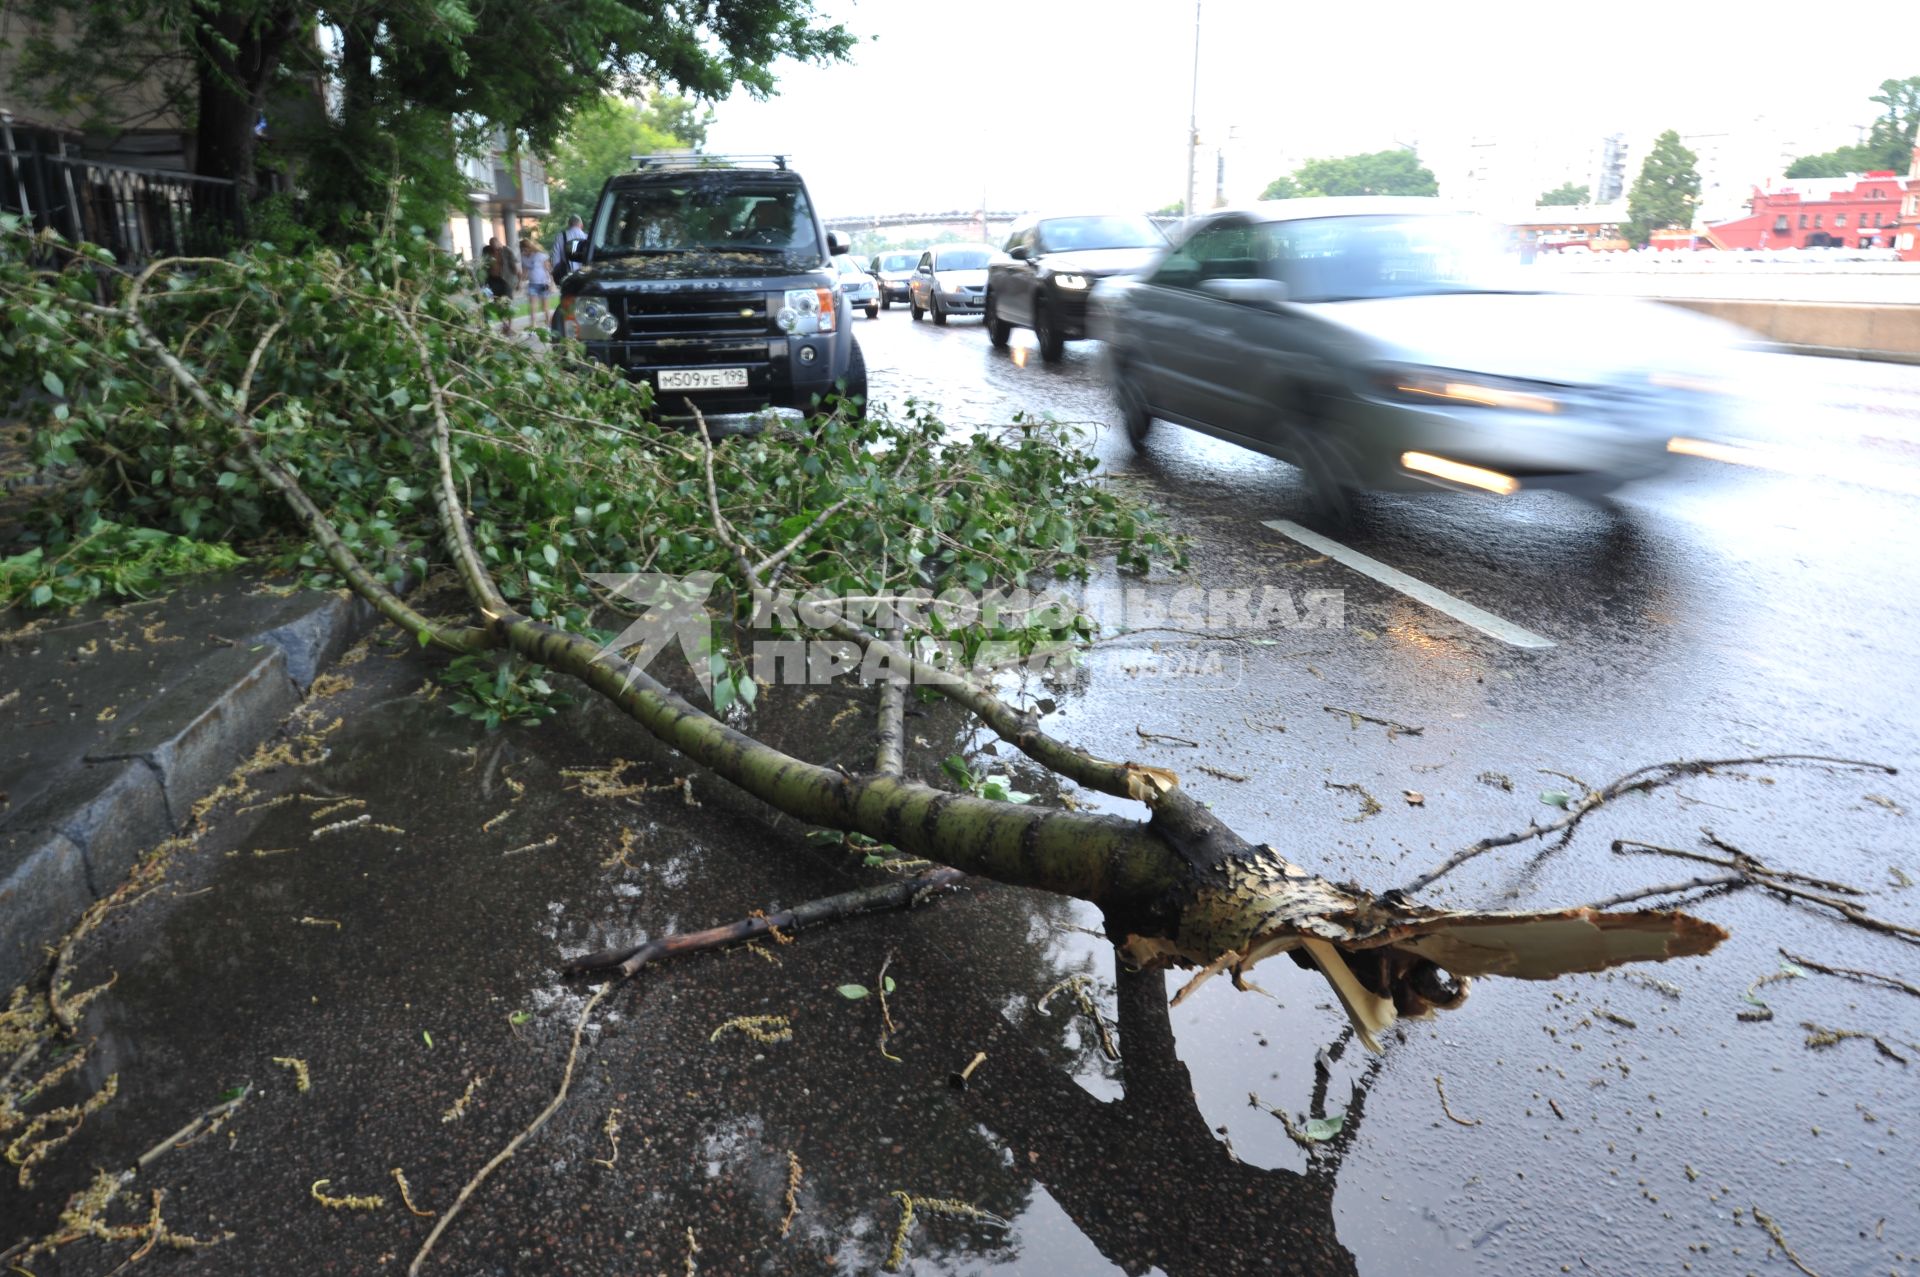
[[[0,163],[0,209],[27,215],[36,230],[100,244],[121,265],[219,255],[246,238],[228,181],[12,146]]]

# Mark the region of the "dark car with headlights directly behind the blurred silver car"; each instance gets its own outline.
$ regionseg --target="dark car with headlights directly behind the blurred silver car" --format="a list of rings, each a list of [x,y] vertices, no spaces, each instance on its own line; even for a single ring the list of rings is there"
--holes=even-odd
[[[1139,271],[1167,246],[1146,217],[1094,213],[1027,217],[1006,234],[1006,257],[987,267],[987,334],[1006,348],[1014,328],[1033,328],[1041,359],[1054,363],[1087,330],[1087,294],[1110,275]]]

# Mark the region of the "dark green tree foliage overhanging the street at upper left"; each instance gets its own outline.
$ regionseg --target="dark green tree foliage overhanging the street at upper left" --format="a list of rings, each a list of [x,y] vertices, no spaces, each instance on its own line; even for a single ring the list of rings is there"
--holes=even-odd
[[[202,175],[252,186],[265,115],[267,154],[303,163],[309,192],[336,219],[384,207],[394,177],[420,184],[422,207],[457,192],[463,121],[545,150],[605,92],[764,96],[778,61],[843,58],[852,44],[843,27],[818,21],[812,0],[152,0],[132,10],[23,0],[21,12],[35,19],[12,86],[25,98],[106,102],[165,73],[194,121]],[[50,38],[60,21],[75,38]],[[334,98],[324,109],[315,84]]]

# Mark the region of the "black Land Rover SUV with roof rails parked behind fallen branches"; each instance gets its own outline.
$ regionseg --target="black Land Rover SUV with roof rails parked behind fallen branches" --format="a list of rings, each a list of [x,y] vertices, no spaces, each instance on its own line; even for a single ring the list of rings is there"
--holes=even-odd
[[[586,238],[555,248],[555,334],[645,380],[666,415],[866,399],[831,261],[847,244],[785,156],[636,156]]]

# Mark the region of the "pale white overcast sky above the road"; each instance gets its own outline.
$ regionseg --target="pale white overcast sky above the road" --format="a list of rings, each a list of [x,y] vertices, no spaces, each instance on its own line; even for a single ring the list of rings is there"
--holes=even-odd
[[[979,207],[1158,207],[1187,184],[1194,6],[1187,0],[816,0],[858,36],[851,63],[780,67],[735,96],[716,152],[780,150],[826,215]],[[1880,81],[1920,75],[1920,10],[1728,10],[1500,0],[1204,0],[1196,186],[1212,204],[1311,156],[1478,134],[1711,133],[1766,113],[1843,131]],[[1870,13],[1870,17],[1868,17]],[[1786,12],[1782,12],[1786,17]],[[1638,157],[1630,165],[1638,169]],[[1569,175],[1572,177],[1572,175]],[[1442,192],[1444,194],[1444,192]]]

